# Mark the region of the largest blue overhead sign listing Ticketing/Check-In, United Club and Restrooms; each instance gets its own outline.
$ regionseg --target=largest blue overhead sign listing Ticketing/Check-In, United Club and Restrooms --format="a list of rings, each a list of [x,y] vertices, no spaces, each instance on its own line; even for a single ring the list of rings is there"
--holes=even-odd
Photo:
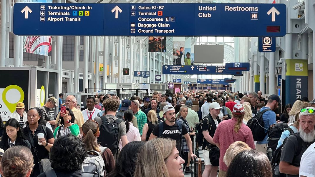
[[[286,6],[258,3],[15,3],[13,32],[20,36],[282,37],[286,33]]]

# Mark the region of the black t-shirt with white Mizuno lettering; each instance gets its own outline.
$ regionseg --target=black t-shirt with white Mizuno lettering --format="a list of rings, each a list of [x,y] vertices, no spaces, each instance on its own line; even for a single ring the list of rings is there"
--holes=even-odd
[[[180,152],[181,150],[181,136],[180,136],[180,130],[178,130],[177,124],[179,124],[178,122],[175,122],[174,125],[169,126],[167,125],[165,122],[161,122],[159,124],[163,124],[163,131],[162,131],[162,136],[163,138],[171,138],[173,140],[176,141],[176,148],[178,150],[178,152]],[[159,124],[157,124],[153,131],[152,134],[154,136],[158,136],[159,134]],[[188,133],[186,127],[184,124],[180,125],[182,127],[182,135],[186,135]]]

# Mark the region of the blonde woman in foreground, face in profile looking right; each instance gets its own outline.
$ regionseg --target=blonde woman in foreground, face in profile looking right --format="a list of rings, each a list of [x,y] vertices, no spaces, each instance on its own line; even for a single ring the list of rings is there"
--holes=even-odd
[[[155,138],[143,145],[136,162],[136,177],[184,177],[176,141]]]

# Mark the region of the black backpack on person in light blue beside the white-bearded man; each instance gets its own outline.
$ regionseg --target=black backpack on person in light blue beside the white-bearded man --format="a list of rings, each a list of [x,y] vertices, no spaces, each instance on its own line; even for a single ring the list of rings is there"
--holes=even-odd
[[[278,124],[274,124],[270,128],[270,132],[268,132],[268,149],[271,148],[272,152],[274,152],[277,149],[278,141],[281,137],[282,132],[284,130],[289,130],[290,134],[293,133],[293,130],[289,128],[288,124],[284,122],[280,122]]]

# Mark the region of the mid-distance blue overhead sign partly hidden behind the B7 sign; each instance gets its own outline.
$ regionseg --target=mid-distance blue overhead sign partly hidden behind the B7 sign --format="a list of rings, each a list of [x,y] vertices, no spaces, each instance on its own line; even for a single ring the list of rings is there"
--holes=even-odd
[[[164,75],[239,75],[239,71],[226,71],[225,66],[163,65]]]

